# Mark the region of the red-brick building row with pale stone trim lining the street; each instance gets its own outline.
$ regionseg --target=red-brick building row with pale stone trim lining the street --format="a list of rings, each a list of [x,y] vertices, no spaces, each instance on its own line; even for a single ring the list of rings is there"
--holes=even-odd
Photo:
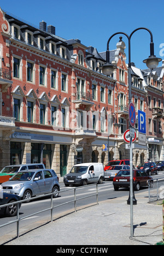
[[[129,159],[126,45],[120,38],[102,73],[106,53],[79,39],[63,39],[54,26],[39,28],[0,9],[0,167],[44,162],[64,176],[77,162]],[[147,115],[147,146],[133,149],[133,164],[163,160],[163,70],[132,66],[132,102]],[[114,127],[118,121],[119,128]],[[136,121],[137,128],[137,121]]]

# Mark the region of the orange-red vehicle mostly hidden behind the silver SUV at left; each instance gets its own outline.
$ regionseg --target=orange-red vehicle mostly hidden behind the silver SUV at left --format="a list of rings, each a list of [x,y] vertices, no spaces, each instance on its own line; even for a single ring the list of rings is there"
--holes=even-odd
[[[0,184],[9,179],[19,171],[33,170],[33,169],[44,169],[44,164],[26,164],[26,165],[8,165],[5,166],[0,172]]]

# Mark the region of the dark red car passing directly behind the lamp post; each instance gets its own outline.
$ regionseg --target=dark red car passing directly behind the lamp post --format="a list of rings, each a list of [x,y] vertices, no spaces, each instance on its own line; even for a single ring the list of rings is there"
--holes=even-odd
[[[153,179],[148,176],[143,170],[133,170],[133,185],[135,190],[139,190],[140,187],[148,186],[148,181]],[[119,188],[130,187],[130,170],[119,171],[113,179],[114,190],[118,191]]]

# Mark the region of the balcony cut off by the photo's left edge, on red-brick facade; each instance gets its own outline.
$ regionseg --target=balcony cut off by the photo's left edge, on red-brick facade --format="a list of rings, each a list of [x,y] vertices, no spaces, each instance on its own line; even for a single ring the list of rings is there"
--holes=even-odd
[[[2,85],[2,92],[7,92],[9,86],[13,84],[13,81],[11,81],[11,71],[0,68],[0,84]]]

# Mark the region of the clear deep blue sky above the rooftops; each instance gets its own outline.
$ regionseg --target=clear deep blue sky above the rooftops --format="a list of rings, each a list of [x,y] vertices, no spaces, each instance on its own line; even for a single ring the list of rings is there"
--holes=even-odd
[[[154,54],[164,60],[163,0],[8,0],[2,1],[0,7],[35,27],[45,21],[47,26],[56,27],[56,36],[79,39],[85,46],[97,48],[99,53],[107,50],[108,39],[114,33],[130,36],[136,28],[146,27],[153,33]],[[120,36],[110,40],[110,50],[116,49]],[[127,38],[122,36],[122,40],[128,63]],[[131,38],[131,62],[145,69],[143,60],[149,55],[150,34],[139,30]]]

